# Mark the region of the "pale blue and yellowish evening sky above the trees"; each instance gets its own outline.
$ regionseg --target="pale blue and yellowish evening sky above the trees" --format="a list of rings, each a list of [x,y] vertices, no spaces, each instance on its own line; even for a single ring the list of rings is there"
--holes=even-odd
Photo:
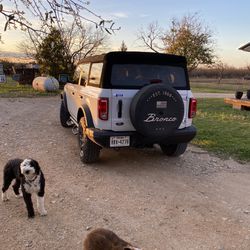
[[[5,2],[10,3],[3,0]],[[138,41],[139,30],[146,29],[152,22],[167,30],[173,18],[198,13],[204,26],[212,31],[218,58],[229,66],[250,65],[250,52],[238,49],[250,42],[249,0],[90,0],[88,7],[121,27],[109,38],[111,49],[118,50],[124,41],[128,50],[145,50]],[[4,24],[0,17],[0,33],[4,41],[0,44],[0,55],[1,51],[18,51],[17,45],[23,39],[16,30],[4,32]]]

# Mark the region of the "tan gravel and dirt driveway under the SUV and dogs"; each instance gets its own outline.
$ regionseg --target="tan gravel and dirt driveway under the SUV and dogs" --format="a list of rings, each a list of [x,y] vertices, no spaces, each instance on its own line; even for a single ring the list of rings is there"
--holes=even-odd
[[[38,160],[48,211],[28,219],[9,192],[1,249],[78,250],[97,227],[144,250],[250,249],[250,164],[189,146],[177,159],[159,148],[103,150],[98,163],[83,165],[59,104],[58,96],[0,99],[0,178],[11,158]]]

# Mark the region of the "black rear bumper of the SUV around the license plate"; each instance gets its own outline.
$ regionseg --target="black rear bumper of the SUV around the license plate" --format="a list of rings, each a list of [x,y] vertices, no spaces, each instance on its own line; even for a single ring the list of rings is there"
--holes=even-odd
[[[104,148],[110,148],[110,137],[112,136],[129,136],[129,147],[143,147],[150,144],[177,144],[190,142],[196,135],[196,128],[190,126],[184,129],[176,129],[171,135],[164,138],[150,138],[137,132],[114,132],[96,128],[87,128],[86,134],[89,139]]]

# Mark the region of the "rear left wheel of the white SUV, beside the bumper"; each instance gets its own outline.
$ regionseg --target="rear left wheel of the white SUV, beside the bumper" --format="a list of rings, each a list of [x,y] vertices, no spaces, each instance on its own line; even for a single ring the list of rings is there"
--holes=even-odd
[[[99,159],[101,147],[92,142],[85,134],[85,119],[82,117],[78,127],[80,158],[83,163],[94,163]]]

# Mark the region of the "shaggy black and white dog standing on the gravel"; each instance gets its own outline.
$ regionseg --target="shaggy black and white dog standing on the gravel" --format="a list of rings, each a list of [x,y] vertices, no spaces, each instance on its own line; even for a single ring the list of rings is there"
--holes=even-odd
[[[17,197],[23,196],[28,211],[28,217],[32,218],[35,216],[31,199],[33,193],[37,195],[38,212],[42,216],[47,215],[47,211],[44,208],[45,179],[38,162],[33,159],[13,159],[7,162],[3,173],[3,201],[9,199],[6,191],[13,179],[15,179],[13,185],[14,193]],[[19,192],[20,186],[22,194]]]

